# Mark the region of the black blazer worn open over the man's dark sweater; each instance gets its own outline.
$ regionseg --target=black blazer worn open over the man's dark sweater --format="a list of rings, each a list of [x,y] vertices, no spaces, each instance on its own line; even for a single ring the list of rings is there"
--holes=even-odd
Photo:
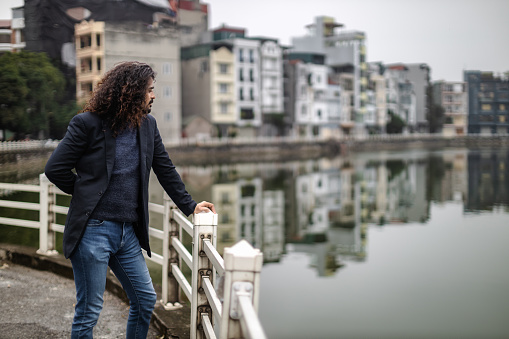
[[[143,249],[151,255],[148,236],[148,182],[150,169],[163,189],[187,216],[196,202],[187,193],[180,175],[164,148],[156,120],[147,115],[138,129],[140,144],[139,222],[136,235]],[[103,119],[85,112],[73,117],[67,133],[55,149],[45,168],[48,179],[65,193],[71,204],[64,229],[64,255],[69,258],[78,245],[88,218],[110,181],[115,161],[115,138]],[[76,173],[72,170],[75,169]]]

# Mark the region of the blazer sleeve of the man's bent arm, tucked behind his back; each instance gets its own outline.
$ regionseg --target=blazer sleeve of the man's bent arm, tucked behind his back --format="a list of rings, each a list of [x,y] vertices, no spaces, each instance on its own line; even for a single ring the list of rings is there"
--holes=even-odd
[[[80,115],[72,118],[67,132],[44,168],[46,177],[67,194],[74,193],[77,175],[73,173],[77,161],[87,148],[85,124]]]

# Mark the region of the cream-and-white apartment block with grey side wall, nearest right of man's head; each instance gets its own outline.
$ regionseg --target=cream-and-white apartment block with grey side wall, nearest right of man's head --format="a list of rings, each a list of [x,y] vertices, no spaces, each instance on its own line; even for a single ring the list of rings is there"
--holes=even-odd
[[[222,26],[202,41],[182,48],[184,121],[205,119],[222,137],[282,134],[283,53],[277,40]]]

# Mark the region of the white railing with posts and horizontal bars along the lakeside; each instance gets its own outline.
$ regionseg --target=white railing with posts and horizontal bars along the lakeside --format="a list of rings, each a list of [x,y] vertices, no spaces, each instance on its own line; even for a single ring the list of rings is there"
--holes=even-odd
[[[44,174],[39,179],[39,185],[0,183],[0,190],[39,193],[39,203],[0,200],[0,207],[39,211],[38,221],[0,217],[0,224],[39,229],[37,253],[56,255],[55,234],[64,231],[64,225],[56,223],[56,215],[68,211],[56,204],[56,196],[66,194]],[[241,240],[225,248],[223,259],[216,249],[217,214],[195,214],[191,223],[166,193],[163,204],[150,203],[149,210],[163,216],[162,230],[149,228],[150,236],[162,241],[162,253],[152,252],[151,258],[145,258],[162,267],[161,303],[165,310],[182,307],[182,290],[191,303],[192,339],[265,339],[258,318],[262,253]],[[182,243],[183,232],[192,236],[192,253]],[[191,282],[182,272],[183,263],[192,271]],[[218,295],[217,290],[224,293]]]

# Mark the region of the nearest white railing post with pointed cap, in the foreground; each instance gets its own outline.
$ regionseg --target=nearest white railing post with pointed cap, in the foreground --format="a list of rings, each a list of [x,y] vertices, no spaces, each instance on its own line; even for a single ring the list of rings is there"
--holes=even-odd
[[[258,313],[260,293],[260,272],[263,265],[263,254],[246,240],[241,240],[232,247],[224,249],[224,302],[221,322],[221,339],[242,338],[239,322],[239,300],[237,292],[251,296],[251,301]]]

